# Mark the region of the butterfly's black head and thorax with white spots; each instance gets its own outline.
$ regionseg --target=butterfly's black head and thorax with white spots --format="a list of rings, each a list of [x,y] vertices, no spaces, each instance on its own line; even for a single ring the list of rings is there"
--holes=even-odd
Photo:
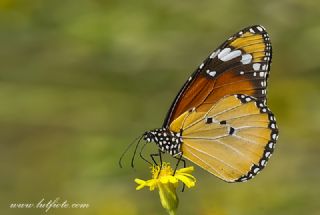
[[[162,152],[174,156],[179,154],[182,138],[180,132],[172,132],[167,128],[158,128],[144,133],[143,139],[147,142],[155,142]]]

